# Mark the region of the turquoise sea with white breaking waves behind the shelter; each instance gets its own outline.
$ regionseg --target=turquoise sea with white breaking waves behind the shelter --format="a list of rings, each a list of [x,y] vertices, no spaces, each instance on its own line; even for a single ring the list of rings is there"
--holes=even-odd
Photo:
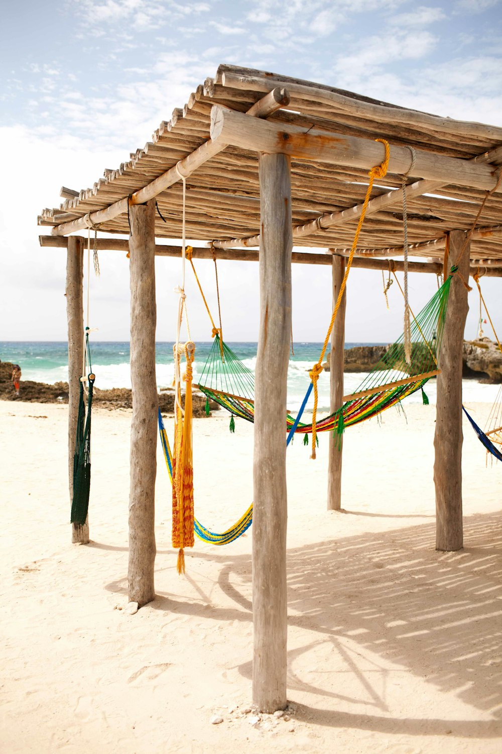
[[[212,342],[197,342],[193,375],[197,381]],[[230,348],[254,371],[257,344],[246,342],[228,343]],[[309,387],[308,370],[318,360],[321,343],[294,343],[294,356],[290,357],[288,369],[288,409],[295,411],[300,407],[303,396]],[[345,343],[345,348],[354,345],[376,345],[374,343]],[[172,342],[158,342],[157,350],[157,385],[159,389],[172,385],[173,361]],[[93,371],[96,373],[96,388],[130,388],[129,342],[93,342],[91,343]],[[23,370],[23,379],[37,382],[66,382],[68,380],[68,345],[66,342],[0,342],[0,360],[18,363]],[[364,373],[345,373],[345,393],[357,390]],[[322,372],[319,379],[319,407],[321,411],[329,408],[330,376]],[[436,400],[435,381],[430,380],[426,392],[434,403]],[[464,401],[492,402],[498,391],[497,385],[482,385],[476,380],[464,380]],[[421,403],[421,393],[410,396],[406,401]]]

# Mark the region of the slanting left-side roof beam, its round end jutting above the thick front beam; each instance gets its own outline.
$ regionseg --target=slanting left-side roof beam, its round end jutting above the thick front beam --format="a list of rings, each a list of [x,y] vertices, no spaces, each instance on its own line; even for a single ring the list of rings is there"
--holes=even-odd
[[[277,92],[272,91],[270,94],[267,94],[263,97],[263,100],[259,100],[255,103],[250,108],[250,112],[245,115],[255,115],[258,120],[260,118],[266,118],[267,115],[275,112],[278,107],[282,107],[282,102],[284,102],[284,104],[289,102],[288,91],[285,90],[284,87],[279,88]],[[182,176],[184,178],[190,176],[194,170],[210,160],[214,155],[218,155],[218,152],[226,149],[227,146],[228,145],[223,143],[221,139],[208,139],[208,141],[202,143],[190,155],[183,160],[180,160],[175,167],[172,167],[170,170],[167,170],[166,173],[158,176],[158,178],[148,183],[148,185],[145,185],[143,189],[139,189],[132,193],[129,199],[124,197],[119,201],[114,202],[114,204],[111,204],[109,207],[105,207],[103,210],[97,210],[96,212],[92,212],[78,220],[73,220],[72,222],[65,222],[62,223],[62,225],[56,225],[52,231],[53,235],[68,235],[68,233],[83,230],[84,228],[90,228],[93,225],[99,225],[102,222],[107,222],[108,220],[114,219],[114,217],[126,213],[129,206],[132,207],[135,204],[145,204],[145,202],[155,198],[166,189],[169,189],[169,186],[172,186],[181,180]]]

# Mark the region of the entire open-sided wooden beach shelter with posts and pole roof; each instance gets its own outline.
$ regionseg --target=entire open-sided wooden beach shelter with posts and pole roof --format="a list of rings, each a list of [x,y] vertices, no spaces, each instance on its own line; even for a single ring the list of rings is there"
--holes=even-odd
[[[286,474],[284,416],[291,340],[291,262],[330,265],[339,291],[368,170],[390,143],[388,173],[367,207],[354,268],[385,270],[403,255],[406,179],[409,272],[440,274],[458,265],[440,354],[434,481],[437,549],[462,547],[461,373],[467,279],[502,276],[502,128],[440,118],[269,72],[220,66],[176,109],[144,149],[92,189],[62,189],[64,204],[44,210],[43,247],[68,249],[69,460],[75,446],[82,363],[84,238],[99,228],[102,250],[130,250],[132,437],[129,599],[154,599],[154,481],[157,442],[154,256],[181,256],[156,238],[181,237],[186,179],[187,235],[210,242],[193,257],[260,264],[260,336],[255,377],[253,520],[253,700],[286,705]],[[438,193],[439,192],[439,193]],[[486,195],[486,192],[491,192]],[[476,215],[482,201],[482,216]],[[160,210],[156,211],[155,204]],[[161,218],[162,215],[162,218]],[[473,225],[476,225],[473,228]],[[472,232],[471,232],[472,230]],[[71,235],[74,234],[74,235]],[[295,252],[319,247],[321,253]],[[259,250],[258,250],[259,247]],[[446,254],[447,250],[447,254]],[[448,256],[448,259],[446,259]],[[404,262],[392,262],[396,270]],[[331,342],[331,409],[343,394],[344,306]],[[275,375],[273,385],[267,379]],[[340,507],[342,450],[330,439],[329,508]],[[71,490],[70,490],[71,493]],[[74,541],[88,541],[73,526]]]

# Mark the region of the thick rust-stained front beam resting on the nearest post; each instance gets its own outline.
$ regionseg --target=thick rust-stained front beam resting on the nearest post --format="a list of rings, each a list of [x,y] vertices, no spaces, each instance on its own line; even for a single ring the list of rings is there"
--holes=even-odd
[[[375,139],[319,130],[306,133],[303,127],[251,120],[240,112],[219,105],[211,109],[210,134],[211,139],[242,149],[282,153],[297,160],[318,160],[364,170],[379,165],[385,158],[383,144]],[[410,167],[412,155],[408,147],[393,144],[388,173],[404,175]],[[494,189],[498,179],[496,170],[489,165],[437,155],[423,149],[415,149],[413,173],[419,178],[484,190]],[[498,190],[502,191],[502,187],[499,186]]]

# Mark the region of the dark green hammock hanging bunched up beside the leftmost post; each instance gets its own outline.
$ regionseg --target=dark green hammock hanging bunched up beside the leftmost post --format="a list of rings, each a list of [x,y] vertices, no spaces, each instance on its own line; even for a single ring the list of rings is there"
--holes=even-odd
[[[90,492],[90,418],[93,407],[94,375],[90,363],[89,328],[86,328],[86,354],[89,365],[87,379],[89,388],[87,391],[87,415],[84,400],[84,383],[81,381],[80,396],[78,400],[77,437],[75,439],[75,455],[73,456],[73,499],[71,501],[71,523],[84,526],[89,509]]]

